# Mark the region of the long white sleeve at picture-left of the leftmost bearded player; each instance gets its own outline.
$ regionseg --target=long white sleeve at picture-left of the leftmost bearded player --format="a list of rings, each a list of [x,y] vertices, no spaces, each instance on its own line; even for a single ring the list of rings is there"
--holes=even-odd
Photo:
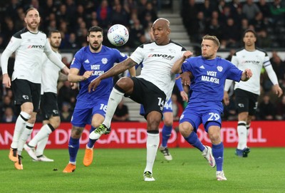
[[[1,55],[1,68],[2,68],[2,74],[8,73],[8,60],[14,51],[16,51],[17,48],[21,45],[21,38],[15,38],[12,36],[8,46],[4,50],[4,52]]]

